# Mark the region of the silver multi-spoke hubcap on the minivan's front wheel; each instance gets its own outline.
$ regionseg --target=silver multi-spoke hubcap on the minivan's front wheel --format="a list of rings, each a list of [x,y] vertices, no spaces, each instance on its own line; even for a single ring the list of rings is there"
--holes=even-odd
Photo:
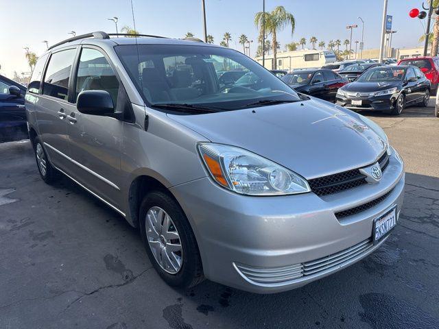
[[[182,267],[183,252],[180,235],[171,217],[160,207],[146,213],[145,230],[150,249],[158,265],[171,274]]]

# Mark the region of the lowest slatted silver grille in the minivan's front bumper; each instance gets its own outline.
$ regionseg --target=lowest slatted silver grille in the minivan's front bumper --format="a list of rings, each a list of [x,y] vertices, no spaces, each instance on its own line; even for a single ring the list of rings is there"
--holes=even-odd
[[[235,263],[235,266],[242,276],[245,276],[252,282],[260,284],[294,283],[307,276],[316,277],[322,273],[340,269],[340,267],[351,263],[353,258],[366,254],[372,246],[372,239],[369,238],[335,254],[305,263],[284,267],[252,267],[237,263]]]

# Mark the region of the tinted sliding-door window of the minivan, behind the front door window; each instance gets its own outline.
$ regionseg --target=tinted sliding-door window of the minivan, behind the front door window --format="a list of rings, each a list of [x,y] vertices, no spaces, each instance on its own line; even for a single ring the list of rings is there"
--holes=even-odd
[[[67,101],[69,77],[76,49],[67,49],[53,53],[47,65],[43,95]]]

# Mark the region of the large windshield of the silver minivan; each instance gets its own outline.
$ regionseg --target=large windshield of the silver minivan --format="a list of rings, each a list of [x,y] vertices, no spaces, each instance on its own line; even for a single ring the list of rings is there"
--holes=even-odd
[[[231,49],[199,45],[119,45],[115,50],[150,106],[178,104],[237,110],[261,102],[299,101],[270,71]],[[221,80],[228,71],[239,72]],[[180,106],[181,108],[181,106]]]

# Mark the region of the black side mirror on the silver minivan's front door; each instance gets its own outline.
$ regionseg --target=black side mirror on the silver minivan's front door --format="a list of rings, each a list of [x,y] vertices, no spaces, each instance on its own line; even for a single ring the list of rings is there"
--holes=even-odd
[[[84,90],[76,101],[78,111],[84,114],[114,117],[115,106],[108,91]]]

